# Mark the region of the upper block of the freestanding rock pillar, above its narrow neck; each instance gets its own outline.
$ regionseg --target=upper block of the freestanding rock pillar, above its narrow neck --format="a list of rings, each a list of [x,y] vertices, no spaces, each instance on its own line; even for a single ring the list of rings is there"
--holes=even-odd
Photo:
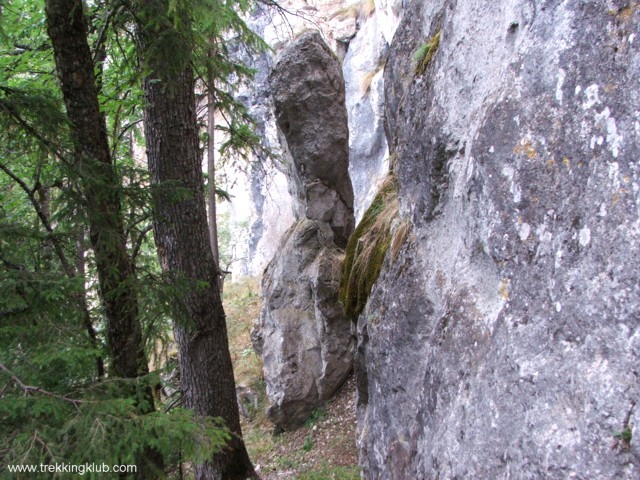
[[[318,32],[306,32],[282,52],[269,83],[298,216],[328,222],[344,247],[354,219],[340,63]]]

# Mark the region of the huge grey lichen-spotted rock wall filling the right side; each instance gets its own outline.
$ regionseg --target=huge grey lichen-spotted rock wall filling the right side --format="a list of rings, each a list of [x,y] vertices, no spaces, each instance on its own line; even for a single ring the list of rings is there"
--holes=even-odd
[[[359,319],[365,478],[640,476],[639,20],[619,1],[405,13],[384,75],[413,233]]]

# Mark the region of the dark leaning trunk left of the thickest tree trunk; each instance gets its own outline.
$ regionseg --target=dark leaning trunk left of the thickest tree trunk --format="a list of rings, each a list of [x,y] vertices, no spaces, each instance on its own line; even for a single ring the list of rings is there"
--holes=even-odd
[[[125,243],[120,182],[112,163],[104,117],[100,112],[87,23],[81,0],[46,0],[47,29],[53,45],[74,143],[74,167],[80,178],[89,219],[100,294],[107,318],[107,346],[114,377],[148,373],[138,312],[136,279]],[[131,392],[133,393],[133,392]],[[128,395],[128,393],[126,393]],[[154,410],[151,389],[141,413]],[[138,477],[162,469],[157,452],[147,449]]]

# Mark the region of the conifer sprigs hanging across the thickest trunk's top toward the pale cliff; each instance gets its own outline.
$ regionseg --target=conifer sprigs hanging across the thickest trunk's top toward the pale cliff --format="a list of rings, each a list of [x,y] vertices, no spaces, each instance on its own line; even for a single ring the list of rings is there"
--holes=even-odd
[[[193,68],[204,89],[213,92],[212,107],[224,119],[224,122],[216,125],[216,130],[224,138],[220,144],[223,158],[239,155],[248,160],[254,152],[271,156],[271,152],[263,147],[261,138],[255,133],[254,119],[245,105],[233,96],[255,73],[239,62],[233,51],[255,55],[269,48],[242,18],[242,15],[251,11],[255,3],[250,0],[171,0],[167,11],[149,11],[144,7],[157,4],[158,2],[141,2],[140,15],[147,23],[172,23],[179,33],[179,41],[170,42],[169,29],[166,29],[166,35],[155,36],[153,42],[145,47],[148,54],[144,61],[158,59],[162,65],[157,68],[156,65],[145,63],[144,74],[163,72],[168,78],[157,80],[168,81],[169,78],[177,78],[182,69]],[[178,47],[182,53],[176,52],[176,43],[178,46],[182,45]]]

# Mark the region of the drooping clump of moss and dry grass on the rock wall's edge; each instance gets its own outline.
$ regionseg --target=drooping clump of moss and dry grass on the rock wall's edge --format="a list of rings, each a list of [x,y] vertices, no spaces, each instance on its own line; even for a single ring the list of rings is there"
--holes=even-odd
[[[364,309],[387,250],[395,243],[391,227],[397,218],[398,181],[390,173],[347,243],[340,302],[352,319]]]

